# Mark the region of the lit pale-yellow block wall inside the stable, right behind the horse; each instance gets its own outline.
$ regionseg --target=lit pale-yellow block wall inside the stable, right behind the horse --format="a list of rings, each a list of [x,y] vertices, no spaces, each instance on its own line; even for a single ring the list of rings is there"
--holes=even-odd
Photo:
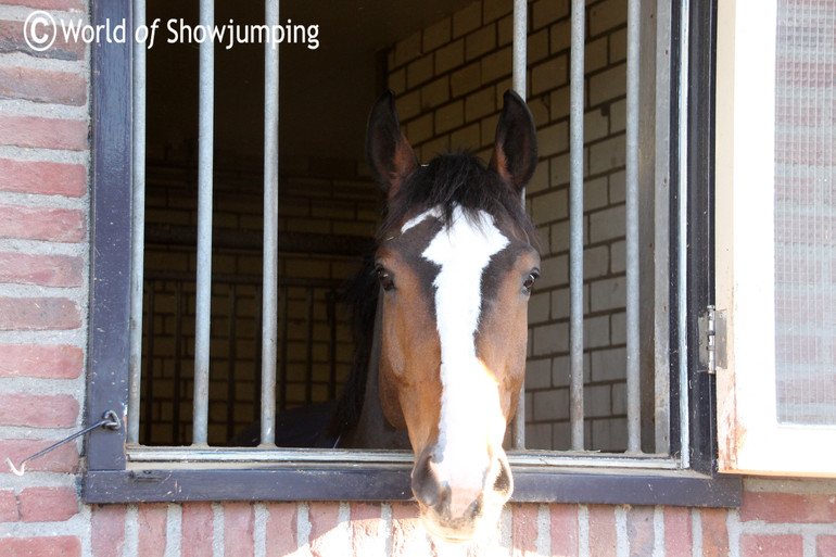
[[[586,2],[584,345],[586,448],[626,448],[624,105],[626,2]],[[484,0],[396,43],[389,86],[427,161],[447,149],[491,156],[511,87],[511,2]],[[528,103],[540,164],[527,200],[542,273],[529,305],[527,446],[569,439],[569,47],[567,0],[529,3]]]

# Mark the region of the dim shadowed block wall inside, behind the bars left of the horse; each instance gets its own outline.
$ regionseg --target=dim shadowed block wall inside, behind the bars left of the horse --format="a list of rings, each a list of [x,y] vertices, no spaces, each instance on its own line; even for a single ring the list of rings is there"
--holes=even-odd
[[[156,150],[159,151],[159,150]],[[316,164],[316,173],[297,169],[297,174],[282,174],[279,193],[279,275],[289,279],[330,279],[339,283],[352,276],[357,261],[354,256],[340,254],[305,254],[282,250],[282,235],[305,232],[319,235],[351,235],[365,239],[373,237],[378,205],[381,193],[368,178],[359,176],[356,162],[344,164]],[[173,168],[172,164],[150,163],[148,173],[148,197],[145,219],[151,225],[175,225],[197,227],[197,176],[193,169],[186,169],[182,163]],[[256,170],[252,168],[255,167]],[[233,167],[219,164],[215,173],[213,226],[226,231],[252,233],[261,239],[264,213],[262,210],[262,175],[259,167]],[[216,229],[217,229],[216,228]],[[173,280],[155,281],[153,295],[153,332],[151,325],[151,282],[145,284],[145,358],[143,377],[153,380],[153,395],[143,383],[143,397],[153,400],[150,418],[151,430],[145,436],[149,423],[142,418],[140,440],[148,444],[188,444],[191,439],[191,377],[194,358],[194,282],[197,256],[194,245],[166,245],[148,243],[145,270],[149,277],[154,271],[179,271],[190,274],[191,281],[181,283],[183,300],[180,302],[181,319],[176,322],[178,286]],[[262,250],[215,248],[213,271],[242,276],[242,280],[262,275]],[[280,290],[279,295],[284,293]],[[330,305],[329,295],[337,291],[327,288],[314,289],[314,363],[312,366],[314,388],[313,401],[329,398],[331,319],[337,319],[337,384],[347,377],[354,357],[354,345],[349,327],[349,313],[334,300]],[[305,288],[289,288],[288,295],[288,383],[287,404],[289,408],[305,404],[305,380],[308,374],[307,358],[307,291]],[[236,316],[230,324],[230,288],[216,284],[213,288],[213,325],[210,383],[210,430],[211,444],[224,445],[237,432],[258,418],[261,374],[261,287],[239,283],[236,287]],[[280,307],[283,307],[280,302]],[[281,317],[280,317],[281,319]],[[235,327],[235,341],[230,334]],[[176,331],[182,340],[175,345]],[[153,362],[149,360],[153,334]],[[284,344],[279,346],[279,357]],[[179,354],[179,359],[178,359]],[[230,357],[233,363],[230,363]],[[235,393],[228,378],[235,374]],[[179,370],[179,371],[178,371]],[[174,400],[174,381],[180,374],[182,396]],[[339,393],[339,387],[337,389]],[[175,429],[175,405],[179,405],[180,426]],[[233,426],[228,427],[229,406],[233,406]],[[175,439],[175,436],[177,439]]]

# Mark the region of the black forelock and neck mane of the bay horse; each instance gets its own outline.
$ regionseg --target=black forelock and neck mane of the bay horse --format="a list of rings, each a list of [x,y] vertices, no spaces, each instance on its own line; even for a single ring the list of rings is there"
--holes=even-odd
[[[525,213],[520,194],[499,175],[487,169],[481,160],[466,152],[442,154],[418,167],[389,201],[377,241],[383,241],[404,220],[432,207],[441,208],[444,225],[448,227],[456,206],[460,206],[468,218],[484,211],[507,219],[530,242],[536,241],[534,225]],[[331,441],[359,420],[371,358],[378,289],[372,253],[364,258],[343,293],[343,301],[352,311],[355,357],[326,429],[326,435]]]

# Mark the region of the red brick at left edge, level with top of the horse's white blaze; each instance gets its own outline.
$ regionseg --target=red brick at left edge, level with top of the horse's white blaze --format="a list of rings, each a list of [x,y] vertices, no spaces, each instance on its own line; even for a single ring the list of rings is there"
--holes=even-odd
[[[0,205],[0,238],[80,242],[86,232],[83,211]]]

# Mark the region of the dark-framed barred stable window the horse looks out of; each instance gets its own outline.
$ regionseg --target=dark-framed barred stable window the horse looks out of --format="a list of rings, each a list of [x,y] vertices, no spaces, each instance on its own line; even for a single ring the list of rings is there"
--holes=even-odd
[[[381,3],[396,47],[366,63],[294,2],[281,25],[299,43],[278,50],[97,46],[89,414],[121,410],[127,428],[91,434],[87,499],[410,497],[411,454],[314,450],[288,426],[322,415],[351,362],[338,284],[373,233],[379,194],[356,161],[388,85],[423,161],[480,152],[496,98],[529,91],[543,280],[508,435],[515,499],[737,504],[739,481],[714,474],[699,351],[713,4],[586,3],[439,2],[421,21]],[[279,25],[275,0],[266,15],[148,10],[97,2],[94,23]]]

